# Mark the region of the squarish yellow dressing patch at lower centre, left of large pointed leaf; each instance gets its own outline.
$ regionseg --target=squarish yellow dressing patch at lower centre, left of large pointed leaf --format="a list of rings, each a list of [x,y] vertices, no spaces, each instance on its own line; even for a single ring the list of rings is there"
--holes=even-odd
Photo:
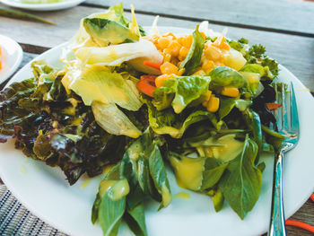
[[[179,187],[198,190],[201,188],[205,158],[170,157]]]

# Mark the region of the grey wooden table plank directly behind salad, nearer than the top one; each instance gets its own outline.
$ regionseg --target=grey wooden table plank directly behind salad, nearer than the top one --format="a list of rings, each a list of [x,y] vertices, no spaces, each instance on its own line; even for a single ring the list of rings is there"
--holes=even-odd
[[[1,5],[1,4],[0,4]],[[45,48],[55,47],[74,35],[78,29],[79,21],[90,13],[100,12],[104,9],[77,6],[75,8],[53,13],[38,13],[40,16],[57,22],[56,26],[38,22],[25,22],[0,17],[0,33],[5,34],[23,44],[35,45]],[[71,17],[69,17],[71,15]],[[129,16],[130,14],[127,13]],[[142,25],[151,25],[153,15],[137,13],[137,21]],[[176,26],[193,29],[196,22],[176,20],[160,17],[160,26]],[[215,31],[222,31],[223,26],[212,24]],[[228,36],[231,39],[241,37],[249,39],[251,44],[261,43],[266,46],[270,57],[274,57],[283,66],[295,74],[302,83],[314,91],[314,39],[283,33],[256,31],[229,27]],[[27,34],[25,34],[27,32]],[[28,46],[28,52],[36,52],[35,48]]]

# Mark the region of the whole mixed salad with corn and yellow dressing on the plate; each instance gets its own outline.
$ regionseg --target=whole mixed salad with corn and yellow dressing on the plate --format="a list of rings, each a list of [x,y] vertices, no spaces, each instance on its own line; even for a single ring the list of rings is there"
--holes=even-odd
[[[263,152],[275,152],[278,64],[261,45],[196,26],[147,34],[122,4],[94,13],[65,46],[64,68],[33,62],[33,77],[0,92],[0,142],[58,166],[73,185],[104,174],[92,223],[116,235],[124,220],[147,235],[144,202],[171,202],[166,167],[181,188],[228,202],[243,219],[262,187]]]

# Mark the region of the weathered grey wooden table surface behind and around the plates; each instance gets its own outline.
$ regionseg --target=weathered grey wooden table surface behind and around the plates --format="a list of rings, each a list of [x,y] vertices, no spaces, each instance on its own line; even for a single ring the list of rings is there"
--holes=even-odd
[[[0,1],[1,2],[1,1]],[[137,22],[144,26],[160,15],[159,26],[195,28],[208,21],[214,31],[228,28],[228,37],[261,43],[267,54],[295,74],[314,91],[314,3],[293,0],[123,0],[126,15],[135,5]],[[90,13],[101,12],[115,0],[88,0],[74,8],[58,12],[36,13],[57,25],[26,22],[0,17],[0,34],[19,42],[24,50],[22,65],[40,53],[65,42],[78,29],[78,22]],[[4,7],[4,4],[0,4]],[[0,89],[2,89],[0,87]],[[1,183],[1,179],[0,179]],[[291,219],[314,225],[314,203],[310,200]],[[312,235],[287,226],[288,235]]]

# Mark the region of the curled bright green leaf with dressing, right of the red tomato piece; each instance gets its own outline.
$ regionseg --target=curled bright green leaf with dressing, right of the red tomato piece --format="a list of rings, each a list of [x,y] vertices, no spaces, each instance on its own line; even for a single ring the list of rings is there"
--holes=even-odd
[[[180,113],[192,102],[197,105],[204,100],[210,81],[209,76],[175,76],[153,92],[153,105],[160,110],[171,104],[174,111]]]

